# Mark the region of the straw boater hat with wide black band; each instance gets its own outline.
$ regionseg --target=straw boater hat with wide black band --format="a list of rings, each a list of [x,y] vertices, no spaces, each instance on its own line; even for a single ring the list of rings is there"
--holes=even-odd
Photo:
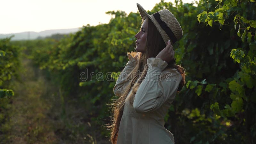
[[[174,44],[182,37],[183,31],[172,12],[167,9],[163,9],[149,15],[140,4],[137,4],[137,7],[139,9],[141,18],[147,15],[149,19],[154,23],[161,36],[163,37],[164,42],[167,42],[170,39],[171,44]]]

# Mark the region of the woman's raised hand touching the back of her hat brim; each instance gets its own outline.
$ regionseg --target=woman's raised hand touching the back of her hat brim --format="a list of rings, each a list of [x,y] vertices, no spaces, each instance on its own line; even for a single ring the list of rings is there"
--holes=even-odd
[[[168,40],[167,46],[157,54],[156,58],[160,58],[168,63],[173,59],[174,53],[173,46],[170,40]]]

